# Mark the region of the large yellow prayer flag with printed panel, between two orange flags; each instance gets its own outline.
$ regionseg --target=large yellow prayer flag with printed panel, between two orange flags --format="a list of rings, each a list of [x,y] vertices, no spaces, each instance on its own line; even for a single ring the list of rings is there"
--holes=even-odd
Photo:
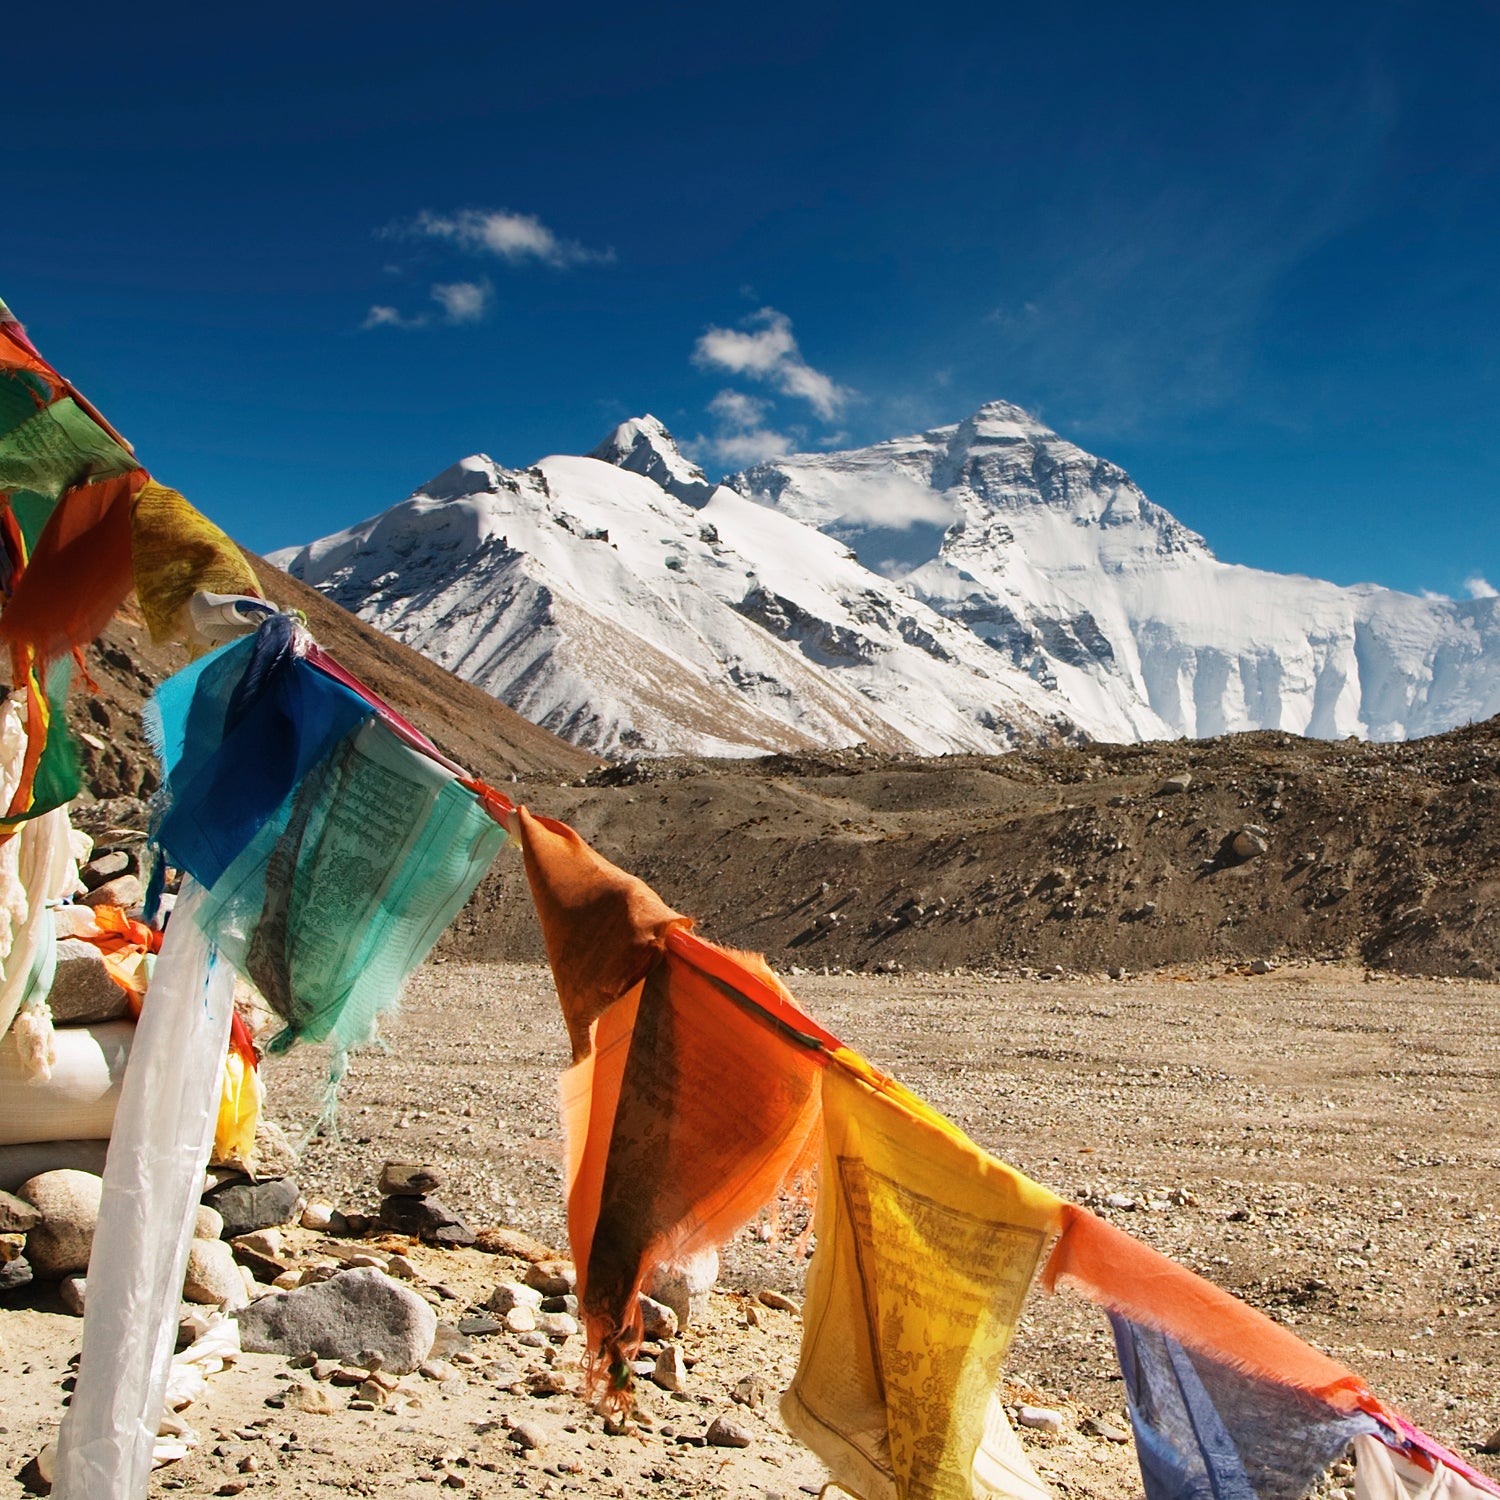
[[[822,1090],[786,1425],[861,1500],[1040,1500],[996,1386],[1060,1200],[855,1053]]]

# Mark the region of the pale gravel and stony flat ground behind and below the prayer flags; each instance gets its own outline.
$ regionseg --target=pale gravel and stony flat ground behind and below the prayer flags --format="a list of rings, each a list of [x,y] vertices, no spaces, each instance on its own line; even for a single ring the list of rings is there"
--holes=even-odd
[[[1478,1452],[1500,1426],[1492,986],[1300,964],[1118,981],[804,974],[792,984],[978,1142],[1293,1326],[1500,1474],[1500,1461]],[[390,1029],[390,1052],[356,1059],[338,1138],[304,1154],[304,1192],[369,1212],[381,1162],[414,1156],[446,1172],[442,1197],[476,1227],[516,1226],[561,1245],[564,1060],[543,969],[429,966]],[[315,1118],[324,1068],[315,1052],[267,1064],[290,1128]],[[296,1230],[284,1256],[308,1266],[394,1251],[453,1328],[492,1317],[492,1288],[528,1269],[513,1256],[380,1233]],[[728,1246],[706,1323],[680,1341],[682,1390],[645,1384],[644,1420],[620,1436],[579,1396],[576,1336],[454,1336],[426,1374],[392,1380],[396,1390],[368,1410],[351,1406],[357,1386],[315,1378],[328,1370],[244,1356],[183,1413],[202,1442],[156,1474],[153,1494],[423,1496],[440,1485],[798,1500],[820,1476],[776,1416],[798,1320],[758,1293],[795,1300],[802,1269],[789,1242],[766,1244],[754,1228]],[[22,1492],[14,1476],[56,1420],[78,1328],[46,1292],[0,1311],[0,1496]],[[1124,1413],[1092,1308],[1034,1296],[1008,1394],[1060,1413],[1059,1432],[1026,1432],[1060,1494],[1140,1492],[1130,1444],[1098,1436]],[[718,1418],[748,1446],[705,1444]],[[1344,1500],[1347,1479],[1334,1473],[1322,1490]]]

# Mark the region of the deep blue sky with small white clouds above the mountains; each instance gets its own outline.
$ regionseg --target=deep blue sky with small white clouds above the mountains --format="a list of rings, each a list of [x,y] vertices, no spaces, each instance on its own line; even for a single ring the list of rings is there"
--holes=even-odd
[[[12,10],[0,296],[250,546],[1005,398],[1226,560],[1500,584],[1496,0]]]

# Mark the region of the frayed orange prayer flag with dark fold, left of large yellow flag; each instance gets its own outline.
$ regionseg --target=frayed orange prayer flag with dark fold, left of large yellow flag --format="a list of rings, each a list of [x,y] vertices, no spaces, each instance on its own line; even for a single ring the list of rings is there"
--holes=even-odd
[[[570,828],[524,808],[518,825],[574,1046],[562,1124],[590,1374],[626,1404],[652,1270],[718,1246],[813,1166],[832,1038],[764,960],[687,933]]]

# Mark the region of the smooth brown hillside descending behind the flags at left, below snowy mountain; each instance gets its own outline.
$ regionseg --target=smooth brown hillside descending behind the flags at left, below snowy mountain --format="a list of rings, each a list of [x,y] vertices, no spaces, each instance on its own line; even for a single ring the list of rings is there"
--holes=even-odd
[[[578,774],[598,764],[280,568],[250,561],[267,598],[303,610],[321,645],[477,776],[508,782],[514,772]],[[141,732],[141,705],[184,662],[182,648],[152,644],[134,597],[86,652],[99,692],[75,687],[68,717],[96,796],[142,798],[154,790],[156,762]]]

